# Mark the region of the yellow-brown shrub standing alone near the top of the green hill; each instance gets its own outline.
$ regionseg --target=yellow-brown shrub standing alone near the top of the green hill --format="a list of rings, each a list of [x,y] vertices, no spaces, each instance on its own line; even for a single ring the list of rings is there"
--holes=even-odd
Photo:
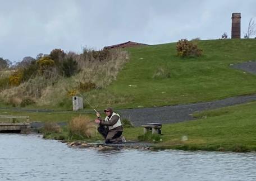
[[[177,42],[176,50],[177,56],[182,57],[201,56],[203,51],[201,49],[198,49],[198,46],[196,44],[193,44],[193,42],[186,39],[181,39]]]

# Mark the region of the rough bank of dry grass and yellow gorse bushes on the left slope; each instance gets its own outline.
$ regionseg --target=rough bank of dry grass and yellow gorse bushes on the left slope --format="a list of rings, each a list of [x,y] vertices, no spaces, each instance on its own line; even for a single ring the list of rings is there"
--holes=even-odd
[[[1,102],[13,107],[72,107],[72,96],[104,89],[129,60],[122,50],[89,50],[25,57],[0,70]]]

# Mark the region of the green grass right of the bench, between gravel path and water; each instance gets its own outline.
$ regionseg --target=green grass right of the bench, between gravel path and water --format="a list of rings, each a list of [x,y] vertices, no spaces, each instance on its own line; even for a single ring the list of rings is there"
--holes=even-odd
[[[196,113],[200,120],[163,125],[162,148],[256,151],[256,102]],[[188,140],[182,141],[182,137]]]

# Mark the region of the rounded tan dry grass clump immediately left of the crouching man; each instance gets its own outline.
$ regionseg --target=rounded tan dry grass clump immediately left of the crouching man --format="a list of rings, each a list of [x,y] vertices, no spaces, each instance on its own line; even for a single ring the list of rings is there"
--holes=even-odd
[[[79,116],[68,122],[68,136],[70,139],[90,138],[95,134],[95,124],[87,116]]]

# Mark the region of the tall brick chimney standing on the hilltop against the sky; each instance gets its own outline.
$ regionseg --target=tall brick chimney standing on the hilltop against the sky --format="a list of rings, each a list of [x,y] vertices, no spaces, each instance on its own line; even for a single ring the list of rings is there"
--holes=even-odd
[[[241,38],[241,13],[232,13],[231,39]]]

